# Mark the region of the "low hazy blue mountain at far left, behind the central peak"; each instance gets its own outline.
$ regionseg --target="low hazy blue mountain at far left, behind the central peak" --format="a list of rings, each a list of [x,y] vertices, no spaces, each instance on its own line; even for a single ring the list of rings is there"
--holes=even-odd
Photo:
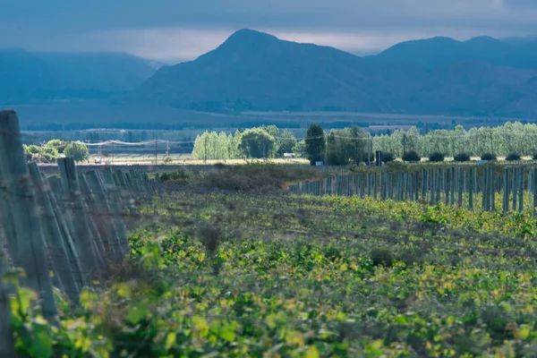
[[[148,61],[131,55],[0,49],[0,104],[107,98],[135,89],[155,72]]]

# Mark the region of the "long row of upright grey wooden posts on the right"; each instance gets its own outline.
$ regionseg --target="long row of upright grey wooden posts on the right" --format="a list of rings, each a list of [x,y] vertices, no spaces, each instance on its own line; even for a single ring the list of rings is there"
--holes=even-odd
[[[407,171],[385,169],[355,175],[336,175],[318,181],[296,183],[295,194],[357,195],[375,200],[444,203],[466,209],[522,212],[537,207],[537,169],[533,166],[446,166]]]

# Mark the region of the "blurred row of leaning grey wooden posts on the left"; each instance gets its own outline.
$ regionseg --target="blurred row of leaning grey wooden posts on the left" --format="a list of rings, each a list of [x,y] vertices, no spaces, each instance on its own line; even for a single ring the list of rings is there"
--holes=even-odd
[[[71,158],[58,167],[60,176],[47,178],[27,164],[17,115],[0,111],[0,357],[14,354],[13,287],[1,279],[7,269],[24,270],[21,285],[38,293],[43,317],[54,324],[53,286],[78,304],[81,289],[106,279],[128,253],[134,223],[124,214],[162,195],[158,175],[110,168],[79,174]]]

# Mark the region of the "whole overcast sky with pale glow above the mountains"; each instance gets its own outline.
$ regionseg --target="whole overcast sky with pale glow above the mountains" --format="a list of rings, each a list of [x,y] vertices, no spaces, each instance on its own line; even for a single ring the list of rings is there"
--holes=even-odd
[[[374,53],[413,38],[537,35],[537,0],[0,0],[0,47],[173,63],[234,30]]]

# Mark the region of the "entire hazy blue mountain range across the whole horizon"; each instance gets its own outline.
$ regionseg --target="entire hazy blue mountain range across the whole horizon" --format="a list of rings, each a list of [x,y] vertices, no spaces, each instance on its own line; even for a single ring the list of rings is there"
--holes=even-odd
[[[537,118],[537,41],[429,38],[359,57],[239,30],[192,62],[0,50],[0,105],[106,98],[115,106]]]

